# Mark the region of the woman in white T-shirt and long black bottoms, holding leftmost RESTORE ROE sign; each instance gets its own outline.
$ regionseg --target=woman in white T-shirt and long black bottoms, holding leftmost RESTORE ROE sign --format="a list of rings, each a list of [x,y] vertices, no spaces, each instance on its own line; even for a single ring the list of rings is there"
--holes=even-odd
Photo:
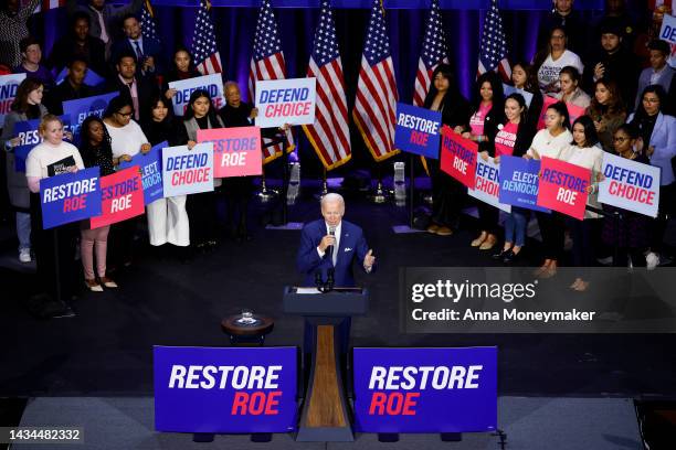
[[[84,163],[77,148],[63,141],[63,122],[59,117],[50,114],[44,116],[39,132],[44,141],[33,147],[25,160],[25,178],[32,193],[31,225],[38,259],[38,278],[53,300],[70,301],[75,293],[73,283],[75,228],[73,224],[66,224],[43,229],[40,180],[76,172],[78,169],[84,169]]]

